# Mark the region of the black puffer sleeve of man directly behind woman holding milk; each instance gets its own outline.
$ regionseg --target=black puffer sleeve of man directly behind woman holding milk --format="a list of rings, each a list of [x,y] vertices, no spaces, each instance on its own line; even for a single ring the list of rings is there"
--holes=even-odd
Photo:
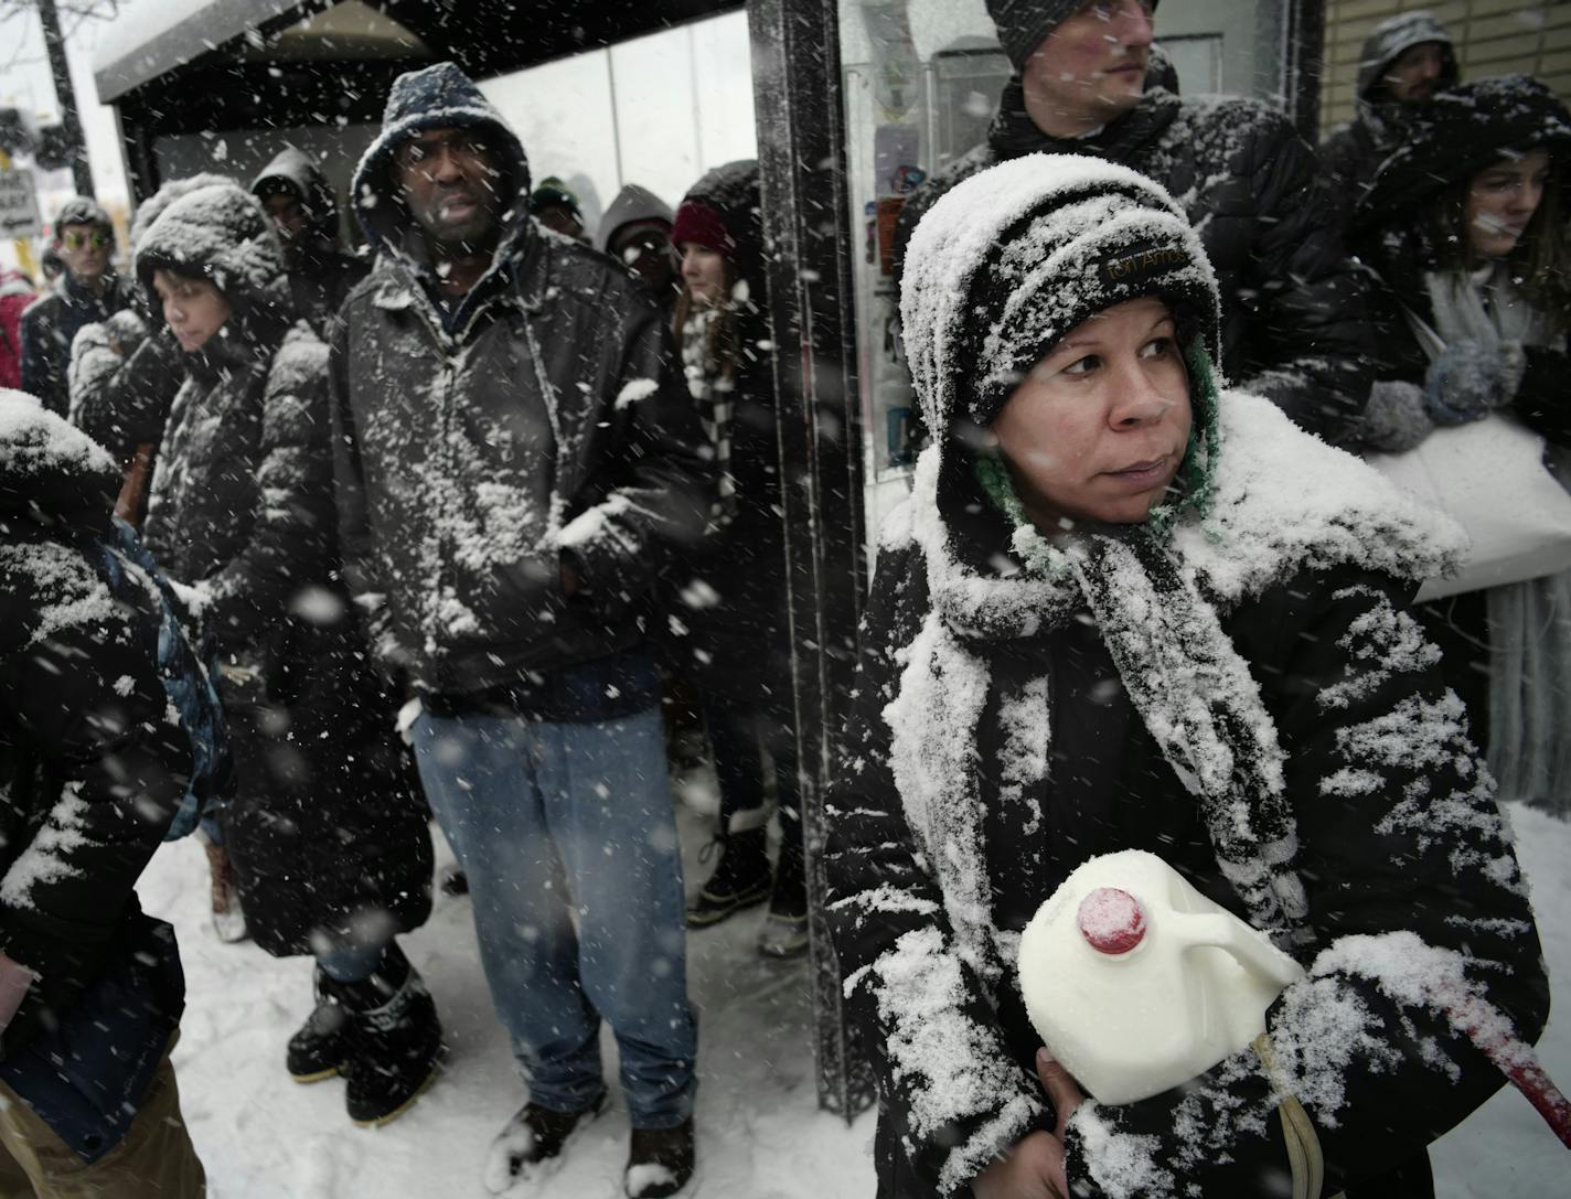
[[[1364,278],[1343,250],[1315,152],[1287,118],[1262,124],[1246,170],[1258,291],[1227,299],[1249,303],[1265,336],[1243,347],[1257,374],[1233,382],[1340,445],[1353,435],[1371,382]]]

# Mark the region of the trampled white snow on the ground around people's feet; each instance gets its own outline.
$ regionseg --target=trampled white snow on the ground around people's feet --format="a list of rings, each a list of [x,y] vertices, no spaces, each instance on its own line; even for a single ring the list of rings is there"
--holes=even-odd
[[[1565,996],[1571,825],[1521,806],[1511,808],[1511,819],[1533,878],[1554,988]],[[688,806],[680,823],[691,891],[707,875],[696,855],[709,823]],[[438,863],[448,861],[438,839]],[[492,1015],[468,899],[438,894],[430,921],[405,940],[448,1029],[446,1072],[402,1119],[363,1130],[344,1114],[342,1081],[300,1086],[283,1069],[284,1042],[311,1004],[309,963],[278,962],[251,944],[212,937],[206,858],[192,839],[165,845],[140,889],[143,905],[179,932],[190,995],[174,1062],[214,1199],[487,1194],[485,1147],[523,1103],[523,1086]],[[872,1116],[847,1127],[817,1109],[806,963],[767,962],[754,952],[762,918],[762,908],[753,910],[688,943],[702,1084],[699,1174],[685,1196],[866,1199],[873,1193]],[[1571,1020],[1551,1023],[1540,1053],[1551,1075],[1571,1087]],[[605,1058],[616,1059],[610,1036]],[[625,1155],[627,1111],[617,1103],[573,1144],[558,1174],[515,1193],[616,1199]],[[1439,1199],[1565,1193],[1565,1150],[1510,1089],[1445,1136],[1433,1157]]]

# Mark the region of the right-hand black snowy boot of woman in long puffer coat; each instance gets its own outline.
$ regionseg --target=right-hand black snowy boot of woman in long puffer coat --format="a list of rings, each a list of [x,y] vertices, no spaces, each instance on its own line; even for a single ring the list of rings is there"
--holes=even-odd
[[[402,1116],[437,1076],[441,1059],[441,1021],[419,973],[390,944],[369,977],[327,979],[324,987],[352,1026],[353,1051],[344,1069],[349,1119],[377,1125]]]

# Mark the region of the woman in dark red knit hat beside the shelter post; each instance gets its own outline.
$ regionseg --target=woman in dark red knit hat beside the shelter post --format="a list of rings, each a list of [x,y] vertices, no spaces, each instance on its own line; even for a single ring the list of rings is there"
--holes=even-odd
[[[720,861],[688,905],[688,926],[709,927],[770,900],[759,952],[790,957],[807,948],[807,889],[759,204],[757,162],[731,162],[693,184],[672,228],[682,255],[672,333],[720,470],[709,530],[679,575],[683,596],[702,583],[713,602],[679,605],[682,632],[671,643],[677,669],[699,690],[720,781]],[[773,877],[760,745],[773,762],[781,820]]]

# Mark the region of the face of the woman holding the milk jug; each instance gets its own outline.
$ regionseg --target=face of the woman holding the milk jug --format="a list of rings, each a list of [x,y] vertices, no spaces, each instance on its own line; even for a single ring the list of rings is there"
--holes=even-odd
[[[1189,376],[1161,300],[1081,324],[1026,376],[993,421],[1031,519],[1046,533],[1089,519],[1133,525],[1189,445]]]

